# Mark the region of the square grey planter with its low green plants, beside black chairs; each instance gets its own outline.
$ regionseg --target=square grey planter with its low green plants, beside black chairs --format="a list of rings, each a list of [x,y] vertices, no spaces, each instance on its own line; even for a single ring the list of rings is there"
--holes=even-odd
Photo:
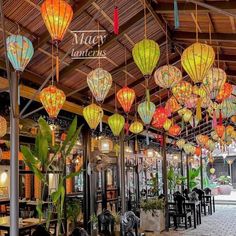
[[[141,228],[160,233],[165,230],[164,199],[150,198],[141,201]]]

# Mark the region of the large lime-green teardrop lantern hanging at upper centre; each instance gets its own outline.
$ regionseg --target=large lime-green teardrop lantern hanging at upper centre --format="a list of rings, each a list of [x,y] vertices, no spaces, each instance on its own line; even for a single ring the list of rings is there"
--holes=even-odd
[[[142,74],[150,76],[160,58],[160,48],[155,41],[143,39],[134,45],[132,55]]]

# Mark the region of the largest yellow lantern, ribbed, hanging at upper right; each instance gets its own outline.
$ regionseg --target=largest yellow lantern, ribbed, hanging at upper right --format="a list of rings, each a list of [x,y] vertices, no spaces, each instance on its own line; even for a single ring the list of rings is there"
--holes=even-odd
[[[201,83],[215,60],[214,49],[202,43],[194,43],[181,56],[181,64],[194,83]]]

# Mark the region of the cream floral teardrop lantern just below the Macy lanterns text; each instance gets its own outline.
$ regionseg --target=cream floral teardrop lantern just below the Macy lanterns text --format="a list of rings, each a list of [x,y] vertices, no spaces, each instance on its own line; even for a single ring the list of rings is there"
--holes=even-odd
[[[112,86],[111,74],[97,68],[88,74],[87,84],[96,101],[103,102]]]

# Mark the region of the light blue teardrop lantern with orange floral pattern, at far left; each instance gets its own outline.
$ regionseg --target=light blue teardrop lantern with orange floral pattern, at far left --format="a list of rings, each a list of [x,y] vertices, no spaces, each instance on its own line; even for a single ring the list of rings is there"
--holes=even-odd
[[[34,54],[31,41],[22,35],[11,35],[6,43],[9,61],[16,71],[23,72]]]

